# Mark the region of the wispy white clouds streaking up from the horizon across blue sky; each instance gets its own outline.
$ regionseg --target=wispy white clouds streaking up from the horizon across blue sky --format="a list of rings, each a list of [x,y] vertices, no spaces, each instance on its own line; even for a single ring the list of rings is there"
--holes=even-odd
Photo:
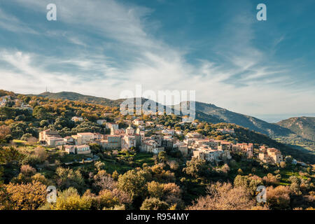
[[[49,3],[16,1],[43,13],[43,6]],[[69,54],[57,57],[2,50],[0,61],[12,69],[0,69],[1,88],[39,93],[48,85],[54,92],[72,91],[116,99],[121,91],[134,90],[140,83],[146,90],[196,90],[199,101],[246,114],[315,111],[314,90],[298,91],[296,87],[292,91],[284,85],[292,82],[284,76],[289,69],[265,65],[266,55],[251,43],[255,38],[252,24],[242,17],[226,27],[225,36],[229,38],[223,38],[216,49],[229,66],[204,59],[190,64],[185,52],[151,36],[151,24],[146,20],[151,9],[111,0],[84,3],[56,0],[55,3],[59,22],[110,38],[117,45],[100,41],[96,47],[89,43],[91,39],[84,36],[84,32],[75,36],[73,32],[64,31],[63,37],[83,49],[73,48]],[[235,24],[238,26],[233,28]],[[60,32],[52,30],[46,35],[58,36]],[[110,54],[106,55],[106,49],[123,54],[127,62],[119,64]],[[66,69],[68,66],[71,69]],[[244,76],[240,76],[241,73]],[[305,95],[313,97],[307,99]]]

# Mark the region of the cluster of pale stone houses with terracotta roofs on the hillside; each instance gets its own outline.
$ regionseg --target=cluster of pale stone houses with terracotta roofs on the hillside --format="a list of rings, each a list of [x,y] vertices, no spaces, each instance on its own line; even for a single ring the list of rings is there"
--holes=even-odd
[[[83,119],[83,118],[82,118]],[[78,117],[73,117],[73,121],[81,121]],[[99,133],[77,133],[71,137],[61,137],[54,130],[45,130],[39,133],[39,141],[47,146],[63,148],[67,153],[88,154],[91,153],[89,144],[95,143],[102,146],[104,150],[137,149],[141,152],[158,154],[161,151],[177,150],[186,157],[204,159],[209,162],[219,162],[230,160],[230,152],[239,152],[247,158],[253,158],[253,144],[232,144],[229,141],[208,139],[203,134],[190,132],[180,141],[174,137],[181,135],[181,131],[167,129],[164,125],[157,125],[158,132],[146,136],[146,129],[153,125],[152,122],[144,123],[143,120],[134,119],[130,121],[126,129],[119,128],[116,123],[106,123],[106,120],[97,120],[99,125],[106,124],[106,129],[111,130],[111,134]],[[132,125],[136,125],[134,129]],[[233,129],[220,129],[219,132],[234,134]],[[281,152],[276,148],[266,148],[260,146],[258,159],[266,163],[279,163],[283,161]]]

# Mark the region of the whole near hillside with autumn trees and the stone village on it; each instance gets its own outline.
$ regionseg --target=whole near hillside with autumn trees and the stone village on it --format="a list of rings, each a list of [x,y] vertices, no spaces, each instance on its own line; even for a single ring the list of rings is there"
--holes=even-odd
[[[313,208],[314,165],[239,125],[3,90],[0,103],[0,209]]]

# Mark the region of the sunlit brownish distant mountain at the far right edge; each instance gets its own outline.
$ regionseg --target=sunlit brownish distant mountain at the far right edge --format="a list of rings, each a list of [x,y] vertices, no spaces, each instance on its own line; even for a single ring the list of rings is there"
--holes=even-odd
[[[304,139],[315,141],[314,117],[288,118],[286,120],[281,120],[279,123],[276,124],[291,130]]]

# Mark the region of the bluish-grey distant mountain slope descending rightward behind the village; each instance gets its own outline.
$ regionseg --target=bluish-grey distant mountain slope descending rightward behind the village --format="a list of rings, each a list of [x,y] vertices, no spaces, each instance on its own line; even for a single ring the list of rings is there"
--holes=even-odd
[[[196,117],[200,120],[209,122],[211,122],[211,120],[216,120],[214,123],[234,123],[242,127],[247,127],[249,130],[267,134],[268,136],[286,136],[291,133],[286,127],[270,124],[258,118],[246,116],[241,113],[228,111],[227,109],[223,109],[214,104],[196,102],[195,107]]]

